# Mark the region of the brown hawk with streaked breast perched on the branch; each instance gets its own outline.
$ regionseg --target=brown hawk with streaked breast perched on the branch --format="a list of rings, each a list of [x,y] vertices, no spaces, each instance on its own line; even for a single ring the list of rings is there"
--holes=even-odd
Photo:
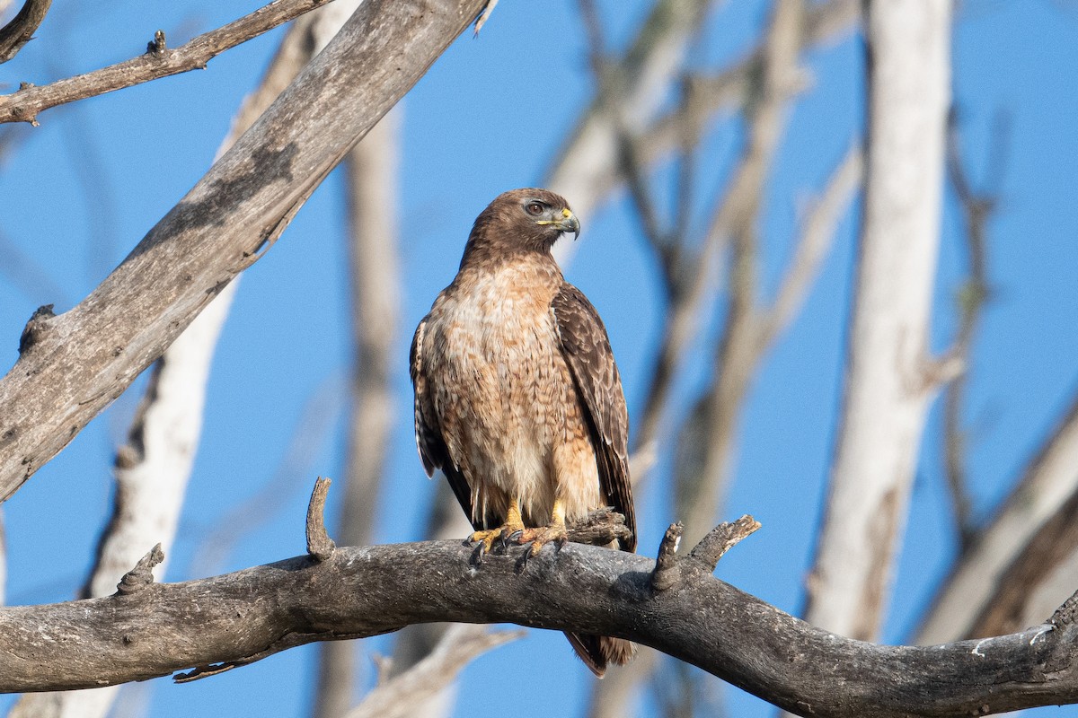
[[[598,312],[551,255],[580,222],[545,189],[498,196],[475,220],[460,269],[412,340],[415,438],[475,530],[470,540],[567,540],[566,521],[600,506],[625,517],[636,549],[628,417]],[[567,633],[602,677],[633,645]]]

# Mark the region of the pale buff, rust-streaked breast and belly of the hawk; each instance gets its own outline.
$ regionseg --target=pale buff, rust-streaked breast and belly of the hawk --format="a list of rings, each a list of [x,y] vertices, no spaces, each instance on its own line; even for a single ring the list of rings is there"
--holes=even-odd
[[[561,283],[538,263],[464,269],[427,319],[425,374],[472,518],[503,518],[516,497],[526,520],[549,521],[555,449],[588,440],[551,313]]]

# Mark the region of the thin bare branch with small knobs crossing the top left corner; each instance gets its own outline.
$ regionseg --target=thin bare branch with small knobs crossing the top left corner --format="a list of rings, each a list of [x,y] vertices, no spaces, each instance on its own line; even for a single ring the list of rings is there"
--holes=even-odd
[[[158,78],[201,70],[231,47],[274,29],[330,0],[274,0],[237,20],[168,50],[157,30],[144,55],[40,87],[26,84],[13,95],[0,95],[0,123],[38,124],[38,114],[58,104],[138,85]]]

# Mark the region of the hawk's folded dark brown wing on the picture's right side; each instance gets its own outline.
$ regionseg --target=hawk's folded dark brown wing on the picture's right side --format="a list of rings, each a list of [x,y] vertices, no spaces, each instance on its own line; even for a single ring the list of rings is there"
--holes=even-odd
[[[622,545],[636,550],[636,515],[628,477],[628,412],[618,365],[603,320],[583,292],[568,282],[551,304],[565,356],[588,417],[599,489],[604,499],[625,517],[633,537]]]

